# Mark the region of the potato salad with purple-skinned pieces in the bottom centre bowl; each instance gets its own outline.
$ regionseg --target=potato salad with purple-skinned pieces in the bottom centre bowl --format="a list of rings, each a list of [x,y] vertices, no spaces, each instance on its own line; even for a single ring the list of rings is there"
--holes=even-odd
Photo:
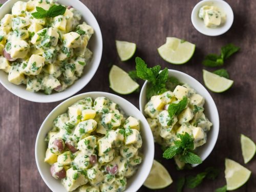
[[[84,98],[53,122],[45,162],[68,191],[123,191],[142,161],[139,120],[105,97]]]

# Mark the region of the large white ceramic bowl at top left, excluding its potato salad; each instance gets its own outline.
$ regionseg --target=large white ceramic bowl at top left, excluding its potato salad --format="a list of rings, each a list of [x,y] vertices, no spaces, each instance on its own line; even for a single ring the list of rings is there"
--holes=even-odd
[[[16,3],[19,0],[9,0],[7,1],[1,8],[0,8],[0,19],[4,17],[5,14],[11,12],[11,8],[14,3]],[[28,0],[22,0],[24,2],[27,2]],[[71,5],[75,9],[77,9],[82,14],[82,20],[84,20],[86,23],[88,23],[92,28],[94,29],[94,34],[92,38],[89,41],[88,47],[93,52],[93,57],[90,63],[84,67],[84,72],[82,76],[75,81],[72,86],[70,86],[68,89],[66,89],[63,92],[60,93],[52,93],[51,95],[45,95],[44,93],[32,93],[29,91],[26,91],[26,86],[24,85],[15,85],[8,81],[8,74],[5,73],[3,70],[0,70],[0,82],[3,84],[3,86],[13,93],[14,95],[34,102],[54,102],[59,101],[62,99],[66,99],[78,91],[80,91],[84,86],[86,86],[89,81],[94,76],[95,72],[97,71],[99,67],[99,63],[101,60],[102,55],[102,35],[99,28],[99,25],[97,23],[96,18],[92,14],[92,12],[80,1],[78,0],[57,0],[59,4],[62,5]]]

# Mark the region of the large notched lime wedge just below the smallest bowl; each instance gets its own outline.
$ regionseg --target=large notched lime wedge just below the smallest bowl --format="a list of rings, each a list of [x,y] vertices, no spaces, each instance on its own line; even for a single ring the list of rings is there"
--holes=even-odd
[[[165,44],[157,50],[159,55],[167,62],[180,65],[187,62],[194,55],[195,49],[196,45],[188,41],[176,37],[166,37]]]

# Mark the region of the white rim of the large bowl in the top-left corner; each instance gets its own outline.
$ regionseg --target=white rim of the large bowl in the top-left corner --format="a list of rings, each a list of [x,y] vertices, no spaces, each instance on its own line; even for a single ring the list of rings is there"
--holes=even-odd
[[[0,7],[0,11],[2,10],[6,10],[7,8],[9,8],[8,6],[11,6],[13,5],[14,3],[16,3],[17,1],[19,0],[8,0],[7,2],[5,2],[3,4],[2,7]],[[24,1],[24,2],[28,2],[29,0],[21,0],[21,1]],[[63,1],[63,0],[57,0],[56,2],[58,3],[59,1]],[[65,0],[64,0],[65,1]],[[62,3],[60,3],[62,4]],[[72,0],[72,3],[70,2],[70,4],[74,5],[74,4],[77,4],[79,5],[80,7],[82,7],[82,9],[84,10],[83,12],[81,12],[82,14],[82,17],[85,17],[83,16],[84,13],[87,13],[90,15],[91,17],[91,22],[90,23],[93,23],[94,24],[94,31],[97,30],[97,33],[94,33],[93,35],[93,38],[95,38],[95,45],[97,44],[97,55],[95,55],[95,52],[93,52],[93,58],[92,60],[90,61],[90,69],[87,70],[87,71],[84,71],[82,76],[79,77],[75,82],[77,83],[76,85],[76,88],[75,89],[72,89],[71,87],[74,86],[74,84],[72,84],[71,86],[69,86],[66,90],[62,91],[62,92],[57,92],[57,93],[54,93],[54,94],[50,94],[50,95],[44,95],[43,93],[38,93],[38,92],[29,92],[27,91],[26,89],[24,91],[25,94],[21,94],[19,93],[19,88],[15,88],[17,85],[13,84],[13,86],[15,86],[14,88],[10,88],[8,86],[8,84],[6,82],[4,82],[4,80],[2,80],[2,78],[0,78],[0,83],[3,85],[3,87],[5,89],[7,89],[10,93],[16,95],[17,97],[19,98],[22,98],[22,99],[25,99],[25,100],[28,100],[28,101],[32,101],[32,102],[40,102],[40,103],[50,103],[50,102],[56,102],[56,101],[60,101],[60,100],[63,100],[63,99],[66,99],[66,98],[69,98],[71,97],[72,95],[75,95],[77,92],[79,92],[80,90],[82,90],[84,87],[87,86],[87,84],[92,80],[92,78],[94,77],[95,73],[97,72],[98,70],[98,67],[100,65],[100,62],[101,62],[101,57],[102,57],[102,50],[103,50],[103,40],[102,40],[102,33],[101,33],[101,30],[100,30],[100,27],[99,27],[99,24],[97,22],[97,19],[95,18],[94,14],[91,12],[91,10],[85,5],[83,4],[82,2],[80,2],[79,0]],[[96,27],[96,28],[95,28]],[[95,47],[96,49],[96,47]],[[93,67],[94,66],[94,67]],[[90,72],[90,73],[89,73]],[[83,76],[86,76],[86,75],[89,75],[88,76],[88,79],[86,79],[86,83],[83,83],[84,81],[79,81]],[[5,78],[5,77],[4,77]],[[9,81],[8,81],[9,82]],[[19,87],[21,85],[18,85]],[[71,88],[71,89],[70,89]],[[23,89],[23,88],[22,88]]]

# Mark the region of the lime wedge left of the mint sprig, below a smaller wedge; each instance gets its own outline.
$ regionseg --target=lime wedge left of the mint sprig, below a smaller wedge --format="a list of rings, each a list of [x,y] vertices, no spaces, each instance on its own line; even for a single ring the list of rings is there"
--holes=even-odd
[[[109,79],[110,88],[119,94],[130,94],[139,88],[139,84],[128,73],[115,65],[110,70]]]

